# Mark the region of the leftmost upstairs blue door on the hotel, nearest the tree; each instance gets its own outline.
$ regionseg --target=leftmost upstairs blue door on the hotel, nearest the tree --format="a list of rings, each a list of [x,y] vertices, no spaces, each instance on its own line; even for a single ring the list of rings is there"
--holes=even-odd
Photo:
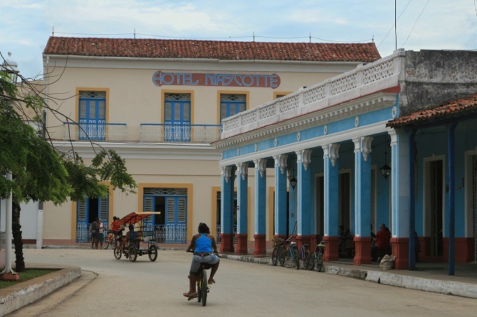
[[[79,139],[105,140],[106,100],[105,98],[80,98]]]

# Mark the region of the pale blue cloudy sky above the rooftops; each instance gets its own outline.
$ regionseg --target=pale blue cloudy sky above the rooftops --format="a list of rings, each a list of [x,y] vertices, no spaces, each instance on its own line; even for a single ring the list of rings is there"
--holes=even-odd
[[[54,36],[477,50],[477,0],[0,0],[0,53],[41,77]],[[397,37],[394,36],[394,14]],[[396,43],[397,42],[397,43]]]

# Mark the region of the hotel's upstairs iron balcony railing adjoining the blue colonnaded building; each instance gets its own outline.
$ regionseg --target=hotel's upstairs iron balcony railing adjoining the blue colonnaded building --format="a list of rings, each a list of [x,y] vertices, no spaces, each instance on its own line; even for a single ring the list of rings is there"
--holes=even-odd
[[[216,124],[141,124],[144,143],[211,144],[220,138]]]

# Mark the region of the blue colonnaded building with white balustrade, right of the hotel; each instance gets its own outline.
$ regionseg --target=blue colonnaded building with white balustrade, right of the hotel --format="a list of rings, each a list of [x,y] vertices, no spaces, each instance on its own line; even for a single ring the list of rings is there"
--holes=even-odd
[[[414,232],[422,260],[475,259],[477,106],[471,97],[470,108],[457,111],[452,100],[476,94],[476,62],[473,51],[397,50],[224,119],[214,143],[221,152],[221,251],[234,250],[236,186],[238,253],[252,241],[254,253],[264,254],[268,232],[286,238],[296,223],[299,243],[313,249],[323,239],[325,261],[337,260],[343,225],[353,237],[353,263],[369,264],[372,227],[384,223],[397,269],[414,266]],[[451,104],[449,113],[413,119],[442,104]]]

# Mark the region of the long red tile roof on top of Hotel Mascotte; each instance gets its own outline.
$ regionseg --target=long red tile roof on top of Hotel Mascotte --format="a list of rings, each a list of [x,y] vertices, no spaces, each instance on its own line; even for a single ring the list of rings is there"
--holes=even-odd
[[[56,36],[48,39],[43,54],[363,63],[381,58],[374,43],[270,43]]]

